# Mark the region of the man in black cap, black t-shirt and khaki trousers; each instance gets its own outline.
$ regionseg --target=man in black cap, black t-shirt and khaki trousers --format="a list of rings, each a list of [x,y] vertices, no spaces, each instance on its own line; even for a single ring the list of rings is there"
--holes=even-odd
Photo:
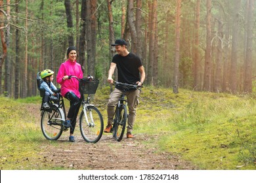
[[[117,76],[119,82],[138,84],[139,86],[142,86],[145,80],[145,71],[140,58],[135,54],[128,52],[127,43],[123,39],[117,39],[115,44],[111,45],[115,46],[117,54],[113,57],[112,63],[110,64],[110,69],[108,71],[108,82],[110,82],[110,84],[114,82],[112,75],[117,67]],[[106,129],[104,129],[105,133],[110,133],[112,129],[114,108],[116,107],[121,93],[121,88],[116,86],[114,91],[110,94],[107,109],[108,125],[106,126]],[[139,104],[139,95],[139,90],[129,91],[127,94],[127,103],[129,108],[127,138],[133,138],[131,133],[133,131],[133,125],[135,122],[136,108]]]

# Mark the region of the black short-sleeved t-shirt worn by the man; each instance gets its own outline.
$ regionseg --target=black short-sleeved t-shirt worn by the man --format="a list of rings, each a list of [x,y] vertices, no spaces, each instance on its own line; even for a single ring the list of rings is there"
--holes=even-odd
[[[119,82],[136,84],[137,81],[140,81],[138,68],[142,66],[142,62],[138,56],[131,52],[125,57],[116,54],[112,62],[116,63]]]

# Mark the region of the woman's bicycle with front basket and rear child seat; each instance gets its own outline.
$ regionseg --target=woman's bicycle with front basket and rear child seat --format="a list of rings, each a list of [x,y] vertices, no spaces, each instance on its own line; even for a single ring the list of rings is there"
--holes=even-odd
[[[49,98],[50,108],[43,108],[43,97],[45,95],[44,90],[40,90],[41,76],[40,72],[37,73],[37,88],[40,91],[42,97],[41,104],[41,130],[46,139],[57,140],[62,135],[63,131],[68,131],[68,128],[64,127],[66,120],[66,110],[64,105],[64,98],[59,94],[60,98]],[[69,76],[73,78],[75,76]],[[81,93],[81,106],[82,110],[79,116],[79,127],[83,139],[86,142],[96,143],[100,140],[103,133],[103,118],[100,111],[90,104],[89,94],[95,94],[98,88],[98,80],[89,80],[88,78],[79,79],[79,92]],[[60,93],[60,89],[54,91]],[[85,94],[87,99],[85,99]]]

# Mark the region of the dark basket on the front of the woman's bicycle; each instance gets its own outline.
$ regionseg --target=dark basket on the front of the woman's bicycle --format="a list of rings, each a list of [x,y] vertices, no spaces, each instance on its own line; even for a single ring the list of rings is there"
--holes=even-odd
[[[88,78],[82,78],[79,80],[79,91],[83,94],[95,94],[98,88],[99,80],[88,80]]]

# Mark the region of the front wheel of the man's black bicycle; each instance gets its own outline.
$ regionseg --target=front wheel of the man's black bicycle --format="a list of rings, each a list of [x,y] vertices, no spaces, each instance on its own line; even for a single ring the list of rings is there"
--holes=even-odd
[[[116,141],[121,141],[121,139],[123,139],[123,133],[125,132],[125,126],[127,122],[127,108],[125,105],[121,105],[115,118],[116,125],[114,129],[114,136]]]

